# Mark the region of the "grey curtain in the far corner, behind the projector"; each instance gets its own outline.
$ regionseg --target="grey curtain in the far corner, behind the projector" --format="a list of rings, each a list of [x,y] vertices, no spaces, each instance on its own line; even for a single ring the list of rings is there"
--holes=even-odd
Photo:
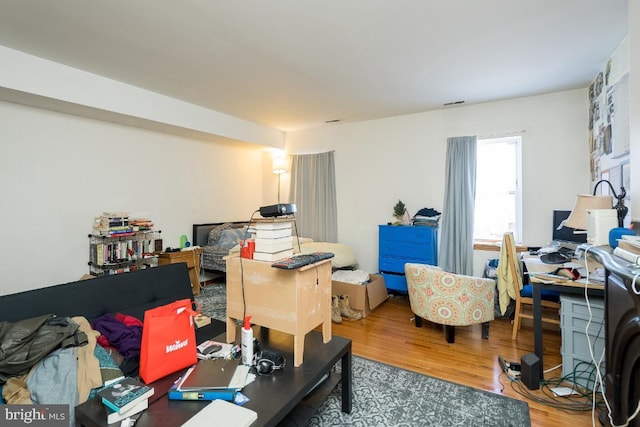
[[[337,242],[338,208],[334,152],[291,156],[290,200],[300,237]]]

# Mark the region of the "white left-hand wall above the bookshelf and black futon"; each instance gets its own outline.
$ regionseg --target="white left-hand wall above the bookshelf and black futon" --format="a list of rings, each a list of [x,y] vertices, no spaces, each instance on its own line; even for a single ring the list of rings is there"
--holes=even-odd
[[[0,101],[0,294],[88,273],[103,211],[150,217],[164,246],[264,203],[263,150]]]

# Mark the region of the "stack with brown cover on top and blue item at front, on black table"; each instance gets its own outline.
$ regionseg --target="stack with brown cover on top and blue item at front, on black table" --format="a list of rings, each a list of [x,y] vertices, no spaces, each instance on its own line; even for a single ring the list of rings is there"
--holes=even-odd
[[[170,400],[234,401],[247,383],[249,366],[234,359],[203,359],[169,389]]]

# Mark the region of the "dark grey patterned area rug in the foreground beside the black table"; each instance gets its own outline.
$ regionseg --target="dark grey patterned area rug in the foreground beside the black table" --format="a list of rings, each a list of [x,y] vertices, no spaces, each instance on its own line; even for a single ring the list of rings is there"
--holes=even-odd
[[[338,363],[336,367],[339,368]],[[529,427],[529,405],[361,357],[353,357],[353,408],[341,411],[341,383],[309,426]]]

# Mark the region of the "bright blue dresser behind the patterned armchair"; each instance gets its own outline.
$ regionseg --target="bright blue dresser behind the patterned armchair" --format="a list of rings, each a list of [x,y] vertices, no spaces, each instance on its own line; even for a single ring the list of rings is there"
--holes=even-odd
[[[438,227],[378,226],[378,269],[387,289],[407,292],[407,262],[438,265]]]

